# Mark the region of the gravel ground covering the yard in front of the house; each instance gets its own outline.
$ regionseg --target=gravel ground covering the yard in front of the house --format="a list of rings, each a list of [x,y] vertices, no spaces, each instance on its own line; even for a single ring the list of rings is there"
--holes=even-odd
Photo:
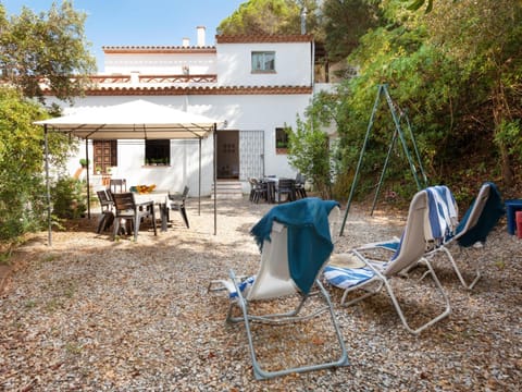
[[[385,292],[352,307],[338,306],[340,290],[327,286],[348,350],[343,368],[256,381],[243,324],[227,326],[224,293],[207,292],[210,279],[254,273],[259,252],[249,229],[271,206],[189,200],[190,229],[173,226],[116,242],[96,234],[96,217],[66,232],[29,238],[13,257],[0,294],[0,389],[7,391],[519,391],[522,383],[521,240],[506,222],[485,248],[453,255],[467,278],[463,290],[443,259],[435,261],[452,314],[419,336],[409,334]],[[399,235],[405,213],[368,216],[351,208],[336,252]],[[428,281],[394,280],[415,324],[440,310]],[[410,291],[413,287],[413,291]],[[410,295],[408,295],[410,294]],[[412,294],[412,295],[411,295]],[[408,295],[408,296],[407,296]],[[434,303],[434,304],[433,304]],[[268,329],[260,338],[263,363],[335,358],[325,318]],[[327,321],[327,319],[325,319]],[[289,338],[281,343],[281,338]],[[281,343],[281,347],[276,347]]]

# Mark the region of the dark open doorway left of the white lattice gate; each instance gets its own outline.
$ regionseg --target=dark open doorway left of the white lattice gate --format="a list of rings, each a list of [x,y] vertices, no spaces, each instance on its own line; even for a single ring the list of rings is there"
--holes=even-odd
[[[239,179],[239,131],[217,132],[217,180]]]

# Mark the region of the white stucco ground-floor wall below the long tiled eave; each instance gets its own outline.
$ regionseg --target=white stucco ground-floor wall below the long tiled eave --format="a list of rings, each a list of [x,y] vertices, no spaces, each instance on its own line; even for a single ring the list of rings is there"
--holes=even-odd
[[[203,114],[220,122],[226,120],[227,130],[263,131],[264,173],[289,177],[296,175],[295,169],[288,164],[286,155],[275,154],[275,128],[296,125],[297,114],[302,117],[309,103],[308,95],[90,96],[77,99],[74,108],[65,109],[65,113],[85,107],[111,106],[138,98],[178,110],[186,109],[191,113]],[[201,194],[210,195],[213,174],[213,138],[204,139],[201,147]],[[117,169],[112,173],[113,177],[126,179],[129,186],[154,183],[158,188],[174,192],[181,192],[187,184],[190,187],[190,196],[197,196],[199,177],[199,145],[197,140],[172,140],[170,167],[144,167],[144,140],[119,140],[117,148]],[[78,155],[72,157],[70,161],[71,174],[78,168],[82,157],[85,157],[85,144],[80,146]],[[92,160],[90,143],[89,157]],[[94,176],[92,183],[96,184],[98,180],[99,177]]]

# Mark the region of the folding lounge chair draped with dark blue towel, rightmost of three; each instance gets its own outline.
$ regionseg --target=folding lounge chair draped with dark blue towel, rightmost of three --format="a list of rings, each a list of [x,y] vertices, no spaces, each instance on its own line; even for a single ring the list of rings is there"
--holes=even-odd
[[[443,243],[437,244],[434,249],[428,252],[426,257],[432,257],[437,252],[444,252],[457,273],[460,283],[467,290],[472,290],[481,279],[478,264],[475,264],[476,269],[473,281],[467,283],[448,247],[456,242],[464,248],[471,247],[476,243],[484,244],[489,232],[505,213],[506,211],[497,186],[490,182],[484,183],[478,191],[478,195],[455,231],[447,235]]]

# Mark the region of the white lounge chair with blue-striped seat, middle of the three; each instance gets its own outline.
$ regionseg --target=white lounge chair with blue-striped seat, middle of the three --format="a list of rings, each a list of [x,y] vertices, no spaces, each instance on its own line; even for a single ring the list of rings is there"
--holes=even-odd
[[[451,313],[449,299],[430,261],[424,259],[426,241],[431,235],[431,233],[428,233],[428,237],[426,238],[425,222],[430,219],[428,213],[427,191],[424,189],[417,193],[410,203],[408,220],[402,237],[398,242],[395,255],[389,260],[372,259],[369,256],[369,254],[375,249],[389,249],[389,243],[375,243],[351,249],[346,255],[348,257],[351,255],[352,258],[355,256],[350,262],[345,265],[331,262],[325,267],[324,277],[326,281],[345,291],[340,301],[341,305],[353,305],[370,295],[378,293],[381,289],[385,286],[402,324],[412,334],[419,334]],[[391,242],[391,244],[394,244],[394,242]],[[334,257],[332,258],[334,259]],[[435,289],[445,303],[445,309],[422,326],[412,328],[405,317],[391,287],[390,280],[397,277],[402,270],[415,265],[420,259],[425,260],[428,273],[435,283]],[[348,294],[358,289],[362,289],[364,293],[351,301],[347,301]]]

